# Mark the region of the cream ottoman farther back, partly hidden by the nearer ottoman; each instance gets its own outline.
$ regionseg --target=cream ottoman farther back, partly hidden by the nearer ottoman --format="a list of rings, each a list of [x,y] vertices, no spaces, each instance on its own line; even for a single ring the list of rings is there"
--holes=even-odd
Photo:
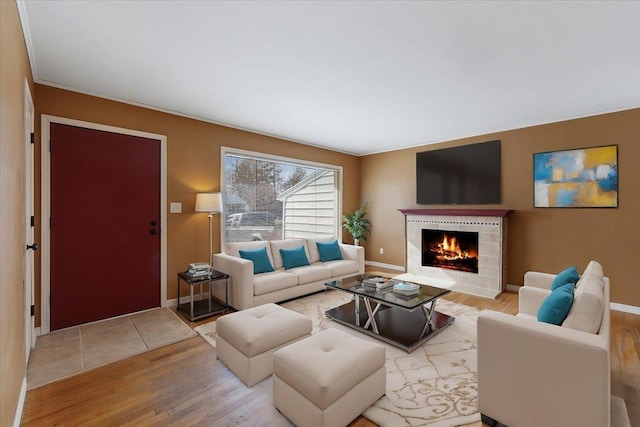
[[[227,314],[216,322],[216,356],[247,386],[273,372],[273,352],[311,334],[311,319],[276,304]]]

